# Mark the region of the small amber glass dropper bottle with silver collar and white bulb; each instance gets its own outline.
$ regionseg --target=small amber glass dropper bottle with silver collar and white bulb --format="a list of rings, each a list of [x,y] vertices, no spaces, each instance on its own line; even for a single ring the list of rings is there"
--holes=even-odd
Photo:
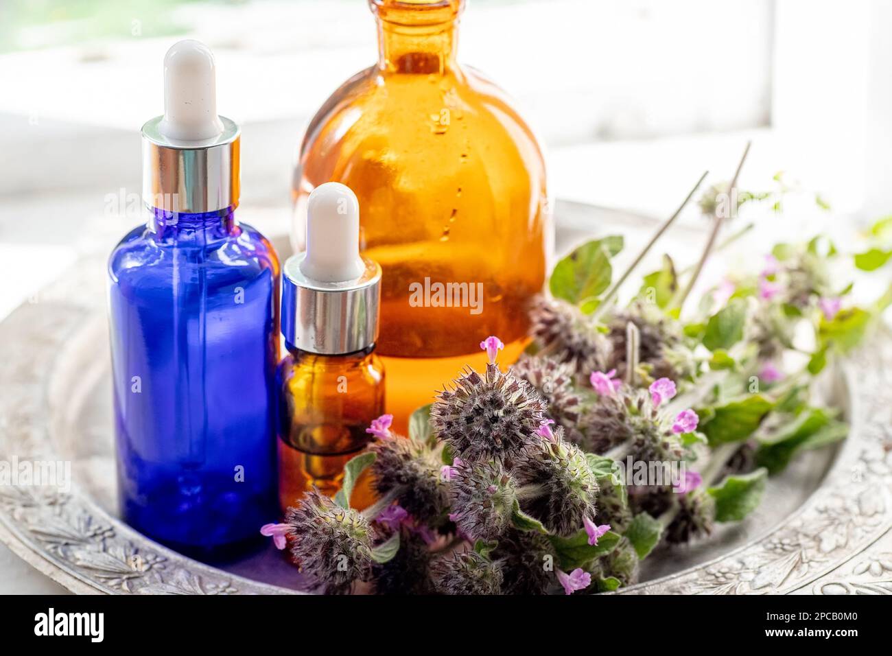
[[[344,464],[366,447],[366,429],[384,413],[384,367],[375,354],[381,267],[359,256],[359,202],[348,187],[326,183],[310,195],[308,212],[307,250],[283,268],[283,511],[312,486],[334,495]],[[351,505],[361,510],[373,501],[360,478]]]

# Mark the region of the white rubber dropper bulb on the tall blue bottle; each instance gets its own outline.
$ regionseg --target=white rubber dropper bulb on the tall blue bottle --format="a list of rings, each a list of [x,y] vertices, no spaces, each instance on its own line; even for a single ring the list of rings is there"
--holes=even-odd
[[[178,141],[204,141],[223,133],[214,55],[201,41],[178,41],[164,55],[164,118],[158,131]]]

